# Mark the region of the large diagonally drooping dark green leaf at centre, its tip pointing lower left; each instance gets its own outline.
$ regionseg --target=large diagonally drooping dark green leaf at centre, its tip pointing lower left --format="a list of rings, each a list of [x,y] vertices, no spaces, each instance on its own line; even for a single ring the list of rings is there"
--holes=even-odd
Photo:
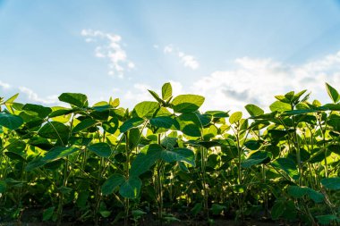
[[[132,162],[130,174],[138,177],[143,172],[149,171],[150,167],[161,157],[162,151],[163,147],[156,144],[144,146]]]

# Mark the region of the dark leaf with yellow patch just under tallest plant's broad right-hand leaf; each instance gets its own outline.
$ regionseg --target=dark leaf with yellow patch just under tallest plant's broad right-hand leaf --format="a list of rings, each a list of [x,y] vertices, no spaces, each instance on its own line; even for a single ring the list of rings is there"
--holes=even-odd
[[[195,113],[183,113],[176,118],[180,125],[180,130],[188,136],[201,136],[201,123]]]

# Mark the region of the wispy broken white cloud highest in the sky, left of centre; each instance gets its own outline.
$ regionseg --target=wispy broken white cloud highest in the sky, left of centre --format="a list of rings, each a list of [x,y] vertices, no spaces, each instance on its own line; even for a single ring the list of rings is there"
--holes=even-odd
[[[82,29],[81,36],[85,37],[86,42],[96,44],[96,57],[108,60],[109,75],[123,78],[124,71],[135,68],[135,64],[128,59],[120,44],[122,37],[119,35],[100,30]]]

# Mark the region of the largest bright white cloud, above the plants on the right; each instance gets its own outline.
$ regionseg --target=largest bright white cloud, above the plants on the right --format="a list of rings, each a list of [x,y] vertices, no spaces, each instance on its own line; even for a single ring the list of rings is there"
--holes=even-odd
[[[327,102],[325,82],[340,90],[336,87],[340,84],[340,52],[301,65],[250,57],[234,63],[236,69],[214,71],[191,86],[193,93],[207,97],[205,109],[243,110],[247,104],[268,107],[276,100],[274,96],[302,89],[311,91],[312,98]]]

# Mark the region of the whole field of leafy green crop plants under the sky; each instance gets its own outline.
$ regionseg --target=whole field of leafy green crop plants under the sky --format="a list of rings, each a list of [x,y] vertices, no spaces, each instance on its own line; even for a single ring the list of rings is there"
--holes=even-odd
[[[340,95],[326,91],[331,104],[303,90],[247,116],[202,113],[203,96],[170,83],[132,110],[0,98],[0,223],[339,225]]]

